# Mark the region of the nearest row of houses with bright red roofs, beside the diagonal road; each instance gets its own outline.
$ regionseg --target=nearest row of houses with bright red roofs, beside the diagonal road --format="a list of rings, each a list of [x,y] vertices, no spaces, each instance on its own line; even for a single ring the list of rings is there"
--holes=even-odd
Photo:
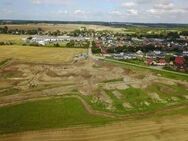
[[[152,66],[170,66],[171,68],[181,68],[187,69],[186,59],[188,58],[188,51],[184,51],[181,54],[166,53],[162,51],[150,51],[148,53],[143,53],[142,51],[137,51],[136,53],[115,53],[115,54],[104,54],[104,57],[111,57],[116,60],[134,60],[138,59],[143,61],[147,65]],[[166,56],[170,56],[167,60]]]

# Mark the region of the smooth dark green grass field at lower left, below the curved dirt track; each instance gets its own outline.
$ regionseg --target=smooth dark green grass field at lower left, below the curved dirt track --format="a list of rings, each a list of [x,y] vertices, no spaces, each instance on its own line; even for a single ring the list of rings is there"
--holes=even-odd
[[[2,107],[0,115],[1,134],[76,125],[96,126],[111,121],[89,114],[76,98],[54,98]]]

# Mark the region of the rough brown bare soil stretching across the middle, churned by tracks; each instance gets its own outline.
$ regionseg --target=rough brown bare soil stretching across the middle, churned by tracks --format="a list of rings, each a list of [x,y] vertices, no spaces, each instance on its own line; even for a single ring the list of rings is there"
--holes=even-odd
[[[96,65],[99,67],[94,67]],[[139,78],[139,75],[145,77]],[[119,78],[124,79],[118,82],[103,83]],[[128,69],[114,67],[100,61],[82,60],[59,65],[14,62],[0,70],[0,88],[3,89],[0,91],[0,104],[13,101],[15,97],[21,100],[77,92],[84,96],[96,96],[112,107],[112,100],[104,90],[124,90],[129,87],[146,88],[156,82],[169,85],[188,85],[187,82],[154,76],[148,72],[139,74],[139,72],[132,71],[130,73]],[[1,92],[10,87],[17,89],[18,92],[1,96]],[[115,95],[120,98],[120,94],[117,92]],[[161,101],[156,94],[150,94],[150,97],[155,101]]]

